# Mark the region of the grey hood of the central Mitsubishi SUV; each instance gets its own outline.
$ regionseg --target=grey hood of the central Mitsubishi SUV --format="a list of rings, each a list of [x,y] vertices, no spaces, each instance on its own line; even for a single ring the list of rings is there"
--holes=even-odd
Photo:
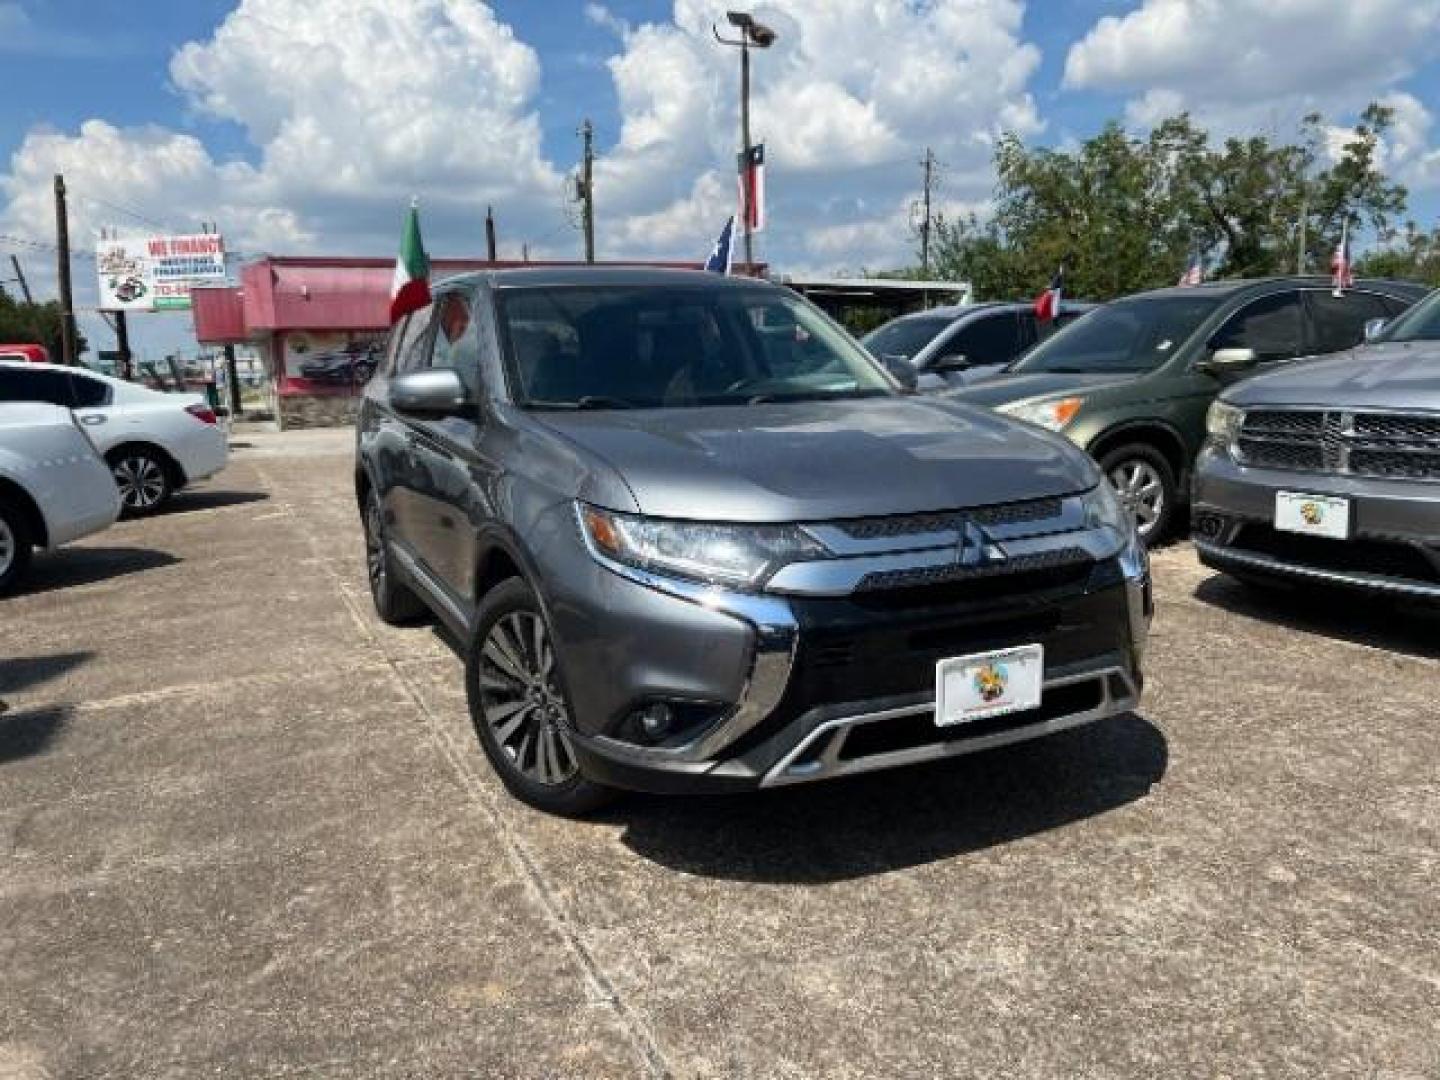
[[[1097,475],[1058,436],[935,397],[531,416],[616,469],[655,517],[913,514],[1070,494]]]

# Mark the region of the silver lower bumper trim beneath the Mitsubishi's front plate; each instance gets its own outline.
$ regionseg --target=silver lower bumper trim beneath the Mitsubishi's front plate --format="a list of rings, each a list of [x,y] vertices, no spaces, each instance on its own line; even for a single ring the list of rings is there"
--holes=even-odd
[[[1125,694],[1116,696],[1112,691],[1112,681],[1115,678],[1119,678],[1120,683],[1125,684]],[[819,724],[793,749],[791,749],[789,753],[776,762],[776,765],[765,773],[765,778],[760,780],[760,786],[778,788],[789,783],[808,783],[811,780],[829,779],[832,776],[848,776],[861,772],[874,772],[877,769],[890,769],[900,765],[932,762],[942,757],[958,757],[959,755],[986,750],[992,746],[1005,746],[1008,743],[1018,743],[1027,739],[1038,739],[1040,736],[1051,734],[1054,732],[1064,732],[1070,727],[1080,727],[1081,724],[1103,720],[1107,716],[1129,711],[1139,704],[1139,690],[1130,675],[1120,667],[1104,667],[1093,671],[1064,675],[1047,681],[1044,688],[1054,690],[1057,687],[1087,683],[1090,680],[1099,680],[1102,687],[1100,704],[1094,708],[1070,713],[1051,720],[1041,720],[1007,732],[995,732],[994,734],[976,736],[973,739],[937,739],[936,742],[926,743],[924,746],[877,753],[848,762],[841,760],[840,755],[850,732],[864,724],[883,723],[897,717],[923,716],[926,713],[933,714],[935,703],[920,701],[874,713],[835,717]],[[936,729],[936,732],[939,732],[939,729]],[[812,755],[811,752],[818,747],[822,747],[819,749],[819,753]]]

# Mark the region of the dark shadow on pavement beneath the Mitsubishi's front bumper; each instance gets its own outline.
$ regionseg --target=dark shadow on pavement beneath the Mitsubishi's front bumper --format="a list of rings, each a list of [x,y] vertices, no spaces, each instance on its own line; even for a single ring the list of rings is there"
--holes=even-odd
[[[661,865],[824,884],[982,851],[1145,798],[1165,736],[1129,713],[1028,743],[852,779],[726,796],[631,795],[600,815]]]

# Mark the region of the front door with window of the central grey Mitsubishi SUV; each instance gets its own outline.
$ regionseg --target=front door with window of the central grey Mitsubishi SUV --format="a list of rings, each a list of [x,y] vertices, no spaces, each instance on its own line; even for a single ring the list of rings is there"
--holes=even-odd
[[[469,408],[459,416],[406,418],[418,467],[410,520],[418,559],[451,593],[449,599],[464,605],[475,566],[468,462],[480,433],[480,336],[475,302],[468,291],[444,292],[432,307],[433,327],[422,367],[451,369],[459,374]]]

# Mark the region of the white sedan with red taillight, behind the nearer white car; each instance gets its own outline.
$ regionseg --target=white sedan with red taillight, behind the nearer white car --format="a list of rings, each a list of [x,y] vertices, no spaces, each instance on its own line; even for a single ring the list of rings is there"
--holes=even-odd
[[[73,409],[131,517],[156,513],[186,484],[225,468],[229,456],[225,432],[200,395],[161,393],[75,367],[0,363],[0,402]]]

